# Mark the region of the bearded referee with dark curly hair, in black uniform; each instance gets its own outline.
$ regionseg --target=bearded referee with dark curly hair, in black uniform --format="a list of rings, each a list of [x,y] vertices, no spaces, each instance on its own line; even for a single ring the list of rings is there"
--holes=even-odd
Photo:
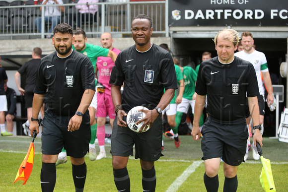
[[[95,72],[89,58],[72,50],[73,29],[67,23],[53,31],[56,52],[44,57],[38,67],[30,131],[39,133],[37,118],[47,91],[49,106],[42,130],[42,192],[53,192],[56,161],[63,146],[71,156],[76,192],[83,192],[86,155],[90,141],[88,107],[95,93]]]

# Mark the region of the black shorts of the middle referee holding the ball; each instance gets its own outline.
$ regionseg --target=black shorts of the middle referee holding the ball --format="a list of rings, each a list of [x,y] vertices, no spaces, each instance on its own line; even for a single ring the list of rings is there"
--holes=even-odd
[[[159,116],[152,127],[146,132],[138,133],[128,126],[121,128],[117,126],[117,116],[113,122],[111,136],[111,154],[113,156],[133,156],[133,145],[135,144],[135,159],[143,161],[156,161],[163,156],[162,146],[162,118]]]

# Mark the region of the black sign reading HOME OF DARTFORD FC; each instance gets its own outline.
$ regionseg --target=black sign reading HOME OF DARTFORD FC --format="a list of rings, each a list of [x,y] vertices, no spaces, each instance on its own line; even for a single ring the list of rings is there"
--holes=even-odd
[[[288,0],[169,0],[169,26],[288,26]]]

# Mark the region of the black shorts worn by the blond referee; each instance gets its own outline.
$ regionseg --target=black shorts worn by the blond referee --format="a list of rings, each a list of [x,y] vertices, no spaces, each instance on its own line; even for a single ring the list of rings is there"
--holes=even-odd
[[[231,166],[238,166],[244,162],[248,138],[244,118],[234,121],[233,124],[227,124],[213,121],[208,117],[201,133],[203,160],[222,157],[222,160]]]

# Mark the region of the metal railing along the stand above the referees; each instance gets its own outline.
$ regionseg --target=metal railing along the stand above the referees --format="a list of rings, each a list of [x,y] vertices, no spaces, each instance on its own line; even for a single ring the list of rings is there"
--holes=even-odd
[[[144,13],[153,20],[153,34],[168,36],[168,0],[159,1],[129,1],[129,2],[98,2],[98,11],[90,18],[86,16],[81,22],[82,28],[87,35],[100,37],[106,31],[111,32],[114,37],[126,37],[131,35],[131,20],[140,13]],[[60,16],[60,23],[67,22],[74,29],[77,28],[78,18],[71,15],[77,14],[76,3],[64,3],[64,12]],[[77,3],[87,5],[85,3]],[[88,5],[89,5],[88,4]],[[45,38],[46,35],[53,35],[48,30],[51,22],[44,22],[45,9],[40,7],[59,6],[58,4],[49,5],[17,5],[0,6],[0,39],[31,39]],[[41,17],[42,32],[40,33],[35,19]],[[82,20],[82,18],[80,17]],[[40,26],[38,26],[40,27]]]

